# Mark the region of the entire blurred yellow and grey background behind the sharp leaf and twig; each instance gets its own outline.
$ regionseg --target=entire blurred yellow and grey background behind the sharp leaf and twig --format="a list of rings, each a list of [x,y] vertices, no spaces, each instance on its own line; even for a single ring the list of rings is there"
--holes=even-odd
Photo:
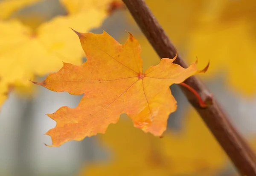
[[[120,1],[118,1],[120,3]],[[160,24],[256,148],[256,1],[146,0]],[[75,107],[81,96],[55,93],[28,80],[42,80],[62,62],[86,60],[76,34],[107,31],[120,43],[136,37],[143,69],[159,63],[128,10],[113,9],[112,0],[0,0],[0,175],[1,176],[235,176],[236,170],[172,85],[178,109],[168,130],[156,138],[133,128],[121,116],[105,134],[47,148],[55,126],[45,114]],[[113,12],[113,13],[112,13]],[[7,99],[8,97],[8,99]],[[7,99],[7,100],[6,100]]]

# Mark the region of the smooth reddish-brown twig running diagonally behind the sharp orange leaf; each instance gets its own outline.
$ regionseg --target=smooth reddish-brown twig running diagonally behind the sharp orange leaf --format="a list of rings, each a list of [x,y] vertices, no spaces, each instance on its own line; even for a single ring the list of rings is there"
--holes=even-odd
[[[148,9],[144,0],[123,0],[123,2],[160,58],[173,58],[176,54],[175,46],[169,40],[169,37],[150,9]],[[180,56],[177,57],[175,62],[187,68],[186,63]],[[256,157],[254,153],[230,123],[226,114],[224,114],[218,103],[213,99],[212,94],[194,76],[186,79],[185,83],[194,88],[207,104],[211,104],[207,108],[201,108],[195,95],[186,88],[181,87],[189,102],[200,114],[212,134],[239,170],[239,173],[241,175],[256,176]]]

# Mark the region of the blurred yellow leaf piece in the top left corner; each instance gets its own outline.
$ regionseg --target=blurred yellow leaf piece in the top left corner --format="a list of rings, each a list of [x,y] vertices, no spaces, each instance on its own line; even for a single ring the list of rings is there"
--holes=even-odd
[[[41,0],[1,0],[0,1],[0,19],[6,19],[15,11],[26,6],[37,3]]]

